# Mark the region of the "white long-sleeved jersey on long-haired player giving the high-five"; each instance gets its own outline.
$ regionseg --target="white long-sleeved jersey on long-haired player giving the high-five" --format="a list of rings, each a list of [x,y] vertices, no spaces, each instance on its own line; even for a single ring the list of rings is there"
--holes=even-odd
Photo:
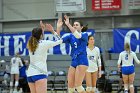
[[[50,40],[40,40],[36,51],[31,53],[29,51],[30,56],[30,64],[27,70],[27,76],[34,76],[40,74],[47,75],[47,52],[49,48],[61,44],[62,40],[58,41],[50,41]]]

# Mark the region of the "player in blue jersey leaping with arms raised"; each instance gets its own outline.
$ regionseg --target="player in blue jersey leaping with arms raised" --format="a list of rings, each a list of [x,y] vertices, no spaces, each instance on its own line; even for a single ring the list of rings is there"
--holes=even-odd
[[[62,37],[63,43],[69,43],[71,45],[71,58],[72,63],[68,70],[68,91],[69,93],[74,93],[75,89],[78,93],[86,93],[82,86],[82,82],[85,77],[86,70],[88,68],[87,59],[87,42],[88,36],[90,34],[83,32],[85,27],[81,21],[75,21],[73,26],[69,23],[69,17],[64,16],[65,24],[70,29],[72,33]],[[87,27],[86,27],[87,28]],[[60,28],[58,28],[60,31]],[[57,32],[58,34],[60,32]]]

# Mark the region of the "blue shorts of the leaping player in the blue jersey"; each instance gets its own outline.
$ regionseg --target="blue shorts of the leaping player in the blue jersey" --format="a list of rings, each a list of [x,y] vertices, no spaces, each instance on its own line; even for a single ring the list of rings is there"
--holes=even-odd
[[[71,66],[76,68],[79,65],[88,66],[87,55],[79,55],[75,59],[72,59]]]

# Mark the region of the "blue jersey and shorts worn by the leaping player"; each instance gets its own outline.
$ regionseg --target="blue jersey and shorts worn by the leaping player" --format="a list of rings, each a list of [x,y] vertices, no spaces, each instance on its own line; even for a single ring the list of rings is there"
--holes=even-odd
[[[72,66],[76,67],[77,65],[87,65],[87,42],[88,42],[88,33],[84,32],[81,34],[81,38],[77,39],[73,34],[63,37],[63,43],[69,43],[71,45],[71,57],[72,57]],[[82,60],[81,60],[82,59]]]

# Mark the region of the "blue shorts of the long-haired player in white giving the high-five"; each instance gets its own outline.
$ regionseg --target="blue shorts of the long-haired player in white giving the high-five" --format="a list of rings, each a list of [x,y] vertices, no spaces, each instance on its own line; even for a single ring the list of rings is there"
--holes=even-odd
[[[40,80],[40,79],[44,79],[44,78],[47,78],[48,76],[47,75],[34,75],[34,76],[30,76],[30,77],[27,77],[27,81],[29,83],[35,83],[35,81],[37,80]]]

